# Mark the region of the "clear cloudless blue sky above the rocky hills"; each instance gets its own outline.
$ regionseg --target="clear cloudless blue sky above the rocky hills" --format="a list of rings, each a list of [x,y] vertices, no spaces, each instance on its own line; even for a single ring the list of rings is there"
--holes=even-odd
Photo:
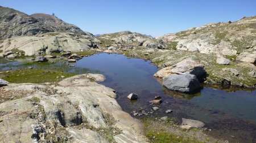
[[[52,14],[93,34],[132,31],[152,36],[256,15],[256,0],[0,0],[28,15]]]

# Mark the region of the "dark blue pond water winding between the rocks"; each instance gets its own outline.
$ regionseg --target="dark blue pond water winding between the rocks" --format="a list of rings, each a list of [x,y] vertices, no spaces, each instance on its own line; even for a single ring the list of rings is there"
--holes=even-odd
[[[101,84],[117,91],[117,102],[126,112],[150,111],[149,101],[161,96],[163,103],[150,116],[169,116],[181,122],[181,118],[196,119],[212,129],[209,134],[230,142],[256,142],[256,90],[220,89],[203,86],[199,93],[183,94],[163,88],[154,73],[158,68],[150,60],[127,59],[120,54],[96,54],[85,57],[75,67],[66,66],[63,60],[55,64],[35,64],[23,62],[0,62],[0,71],[12,68],[61,68],[72,73],[102,73],[106,80]],[[137,101],[129,101],[127,95],[137,93]],[[166,110],[174,112],[166,114]],[[142,118],[142,117],[136,117]]]

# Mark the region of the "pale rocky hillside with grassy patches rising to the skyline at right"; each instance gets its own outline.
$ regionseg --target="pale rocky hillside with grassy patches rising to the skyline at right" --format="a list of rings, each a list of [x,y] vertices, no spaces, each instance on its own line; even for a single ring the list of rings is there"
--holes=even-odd
[[[177,50],[214,53],[242,62],[256,62],[256,16],[227,23],[209,23],[174,34],[157,37],[167,43],[176,42]]]

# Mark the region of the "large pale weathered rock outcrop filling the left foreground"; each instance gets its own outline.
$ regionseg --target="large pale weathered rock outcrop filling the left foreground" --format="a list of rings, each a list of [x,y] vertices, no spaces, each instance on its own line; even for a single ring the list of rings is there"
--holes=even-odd
[[[145,142],[141,125],[122,111],[113,89],[92,82],[98,74],[69,77],[56,85],[9,84],[22,97],[0,103],[3,142]],[[7,93],[7,92],[6,92]]]

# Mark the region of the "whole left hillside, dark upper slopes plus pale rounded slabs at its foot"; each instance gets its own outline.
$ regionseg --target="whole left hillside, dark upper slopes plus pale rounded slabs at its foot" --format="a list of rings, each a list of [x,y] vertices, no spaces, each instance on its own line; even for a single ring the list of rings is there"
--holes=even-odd
[[[93,34],[47,14],[27,15],[0,7],[0,53],[43,55],[97,47]]]

